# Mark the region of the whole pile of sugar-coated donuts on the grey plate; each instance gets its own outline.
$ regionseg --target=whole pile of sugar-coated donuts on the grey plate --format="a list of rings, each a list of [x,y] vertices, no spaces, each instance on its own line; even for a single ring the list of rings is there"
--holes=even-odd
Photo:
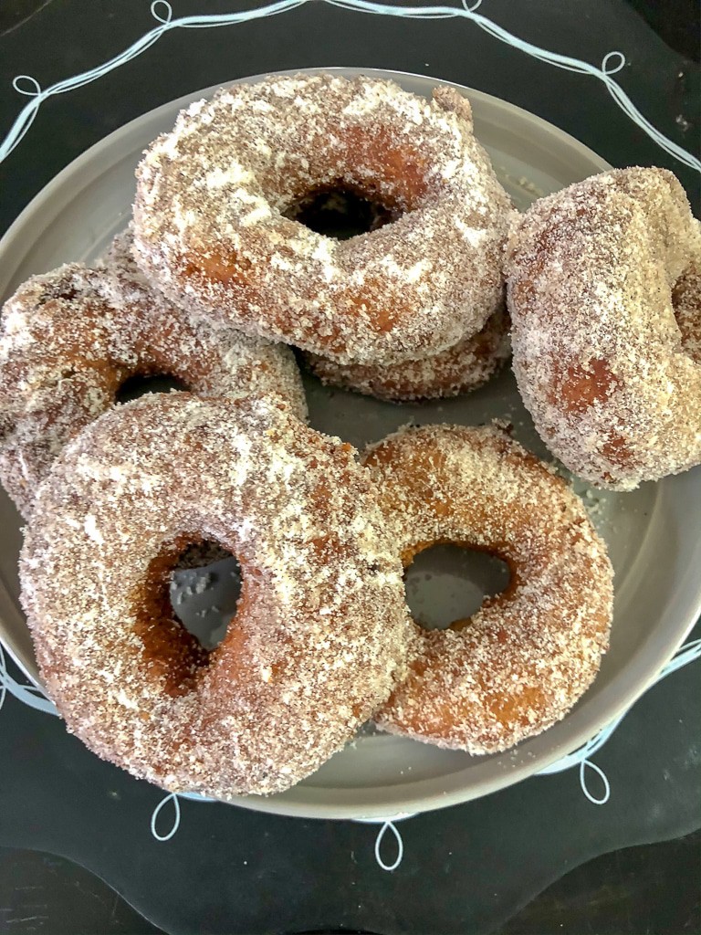
[[[136,180],[103,260],[33,277],[2,314],[0,474],[67,728],[137,777],[230,799],[299,782],[371,719],[484,755],[563,718],[612,615],[579,497],[505,424],[408,427],[358,453],[309,427],[297,361],[401,402],[467,393],[512,348],[539,435],[579,478],[626,491],[693,468],[701,231],[680,183],[610,171],[520,215],[465,97],[327,75],[198,101]],[[365,201],[365,233],[303,223],[339,193]],[[150,374],[179,389],[120,401]],[[206,542],[242,573],[211,651],[169,599]],[[403,575],[446,542],[510,581],[427,630]]]

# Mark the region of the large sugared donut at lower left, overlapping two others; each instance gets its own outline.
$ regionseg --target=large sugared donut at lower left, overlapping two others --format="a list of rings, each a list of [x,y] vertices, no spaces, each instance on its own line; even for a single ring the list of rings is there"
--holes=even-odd
[[[21,602],[41,677],[93,752],[173,792],[279,792],[388,697],[402,569],[354,450],[275,396],[143,396],[69,442],[40,486]],[[167,598],[177,555],[242,571],[210,653]]]

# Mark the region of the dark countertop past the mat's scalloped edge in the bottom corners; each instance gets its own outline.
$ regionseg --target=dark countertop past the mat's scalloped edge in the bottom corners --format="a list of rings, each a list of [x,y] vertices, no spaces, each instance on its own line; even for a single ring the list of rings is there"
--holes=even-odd
[[[549,886],[493,935],[635,935],[701,930],[701,831],[595,857]],[[0,931],[161,932],[99,877],[62,857],[0,848]],[[689,885],[684,885],[688,882]],[[70,914],[66,912],[70,907]],[[342,929],[350,935],[351,929]]]

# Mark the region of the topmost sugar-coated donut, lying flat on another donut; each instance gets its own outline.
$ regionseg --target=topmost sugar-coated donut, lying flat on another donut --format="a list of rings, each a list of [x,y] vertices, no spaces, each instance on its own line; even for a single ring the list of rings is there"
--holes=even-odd
[[[136,260],[207,320],[384,365],[447,350],[503,300],[511,206],[451,88],[427,101],[324,74],[235,85],[183,110],[136,178]],[[335,192],[391,223],[340,241],[294,220]]]

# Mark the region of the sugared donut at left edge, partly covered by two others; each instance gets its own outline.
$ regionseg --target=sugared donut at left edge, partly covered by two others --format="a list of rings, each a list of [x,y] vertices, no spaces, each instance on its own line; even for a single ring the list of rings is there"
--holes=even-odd
[[[33,277],[3,310],[0,480],[25,518],[65,442],[135,374],[167,374],[207,396],[278,393],[306,417],[292,352],[193,323],[132,275],[126,243],[108,270],[70,264]]]

